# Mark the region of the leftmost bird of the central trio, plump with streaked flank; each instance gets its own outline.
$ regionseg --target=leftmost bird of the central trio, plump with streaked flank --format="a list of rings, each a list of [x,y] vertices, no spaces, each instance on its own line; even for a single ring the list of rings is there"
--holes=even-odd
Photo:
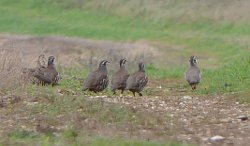
[[[98,69],[88,75],[84,81],[83,91],[89,90],[96,93],[107,88],[109,82],[107,63],[109,61],[102,60]]]

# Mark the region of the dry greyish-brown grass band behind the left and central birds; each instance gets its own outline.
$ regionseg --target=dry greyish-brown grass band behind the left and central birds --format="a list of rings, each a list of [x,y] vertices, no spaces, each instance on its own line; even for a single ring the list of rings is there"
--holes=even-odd
[[[32,68],[37,65],[37,57],[54,55],[56,64],[65,67],[96,68],[102,59],[111,62],[111,72],[118,67],[118,61],[126,58],[131,68],[137,68],[137,63],[154,63],[153,60],[160,55],[159,51],[145,42],[123,43],[113,41],[93,41],[79,38],[59,36],[34,37],[34,36],[9,36],[0,35],[4,40],[0,47],[19,50],[24,67]],[[12,45],[15,44],[15,45]]]

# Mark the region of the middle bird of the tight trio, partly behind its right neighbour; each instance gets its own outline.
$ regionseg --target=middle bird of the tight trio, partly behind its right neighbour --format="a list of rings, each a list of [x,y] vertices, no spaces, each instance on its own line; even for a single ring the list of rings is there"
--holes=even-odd
[[[120,69],[112,76],[111,84],[112,84],[112,92],[114,95],[116,94],[115,90],[121,90],[121,94],[126,88],[126,81],[129,77],[128,70],[126,68],[126,59],[120,60]]]

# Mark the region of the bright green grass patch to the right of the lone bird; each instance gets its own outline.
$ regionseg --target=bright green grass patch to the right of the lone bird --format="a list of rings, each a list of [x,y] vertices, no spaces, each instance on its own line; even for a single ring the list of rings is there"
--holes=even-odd
[[[230,93],[247,91],[250,87],[250,57],[234,60],[219,70],[204,70],[201,93]]]

